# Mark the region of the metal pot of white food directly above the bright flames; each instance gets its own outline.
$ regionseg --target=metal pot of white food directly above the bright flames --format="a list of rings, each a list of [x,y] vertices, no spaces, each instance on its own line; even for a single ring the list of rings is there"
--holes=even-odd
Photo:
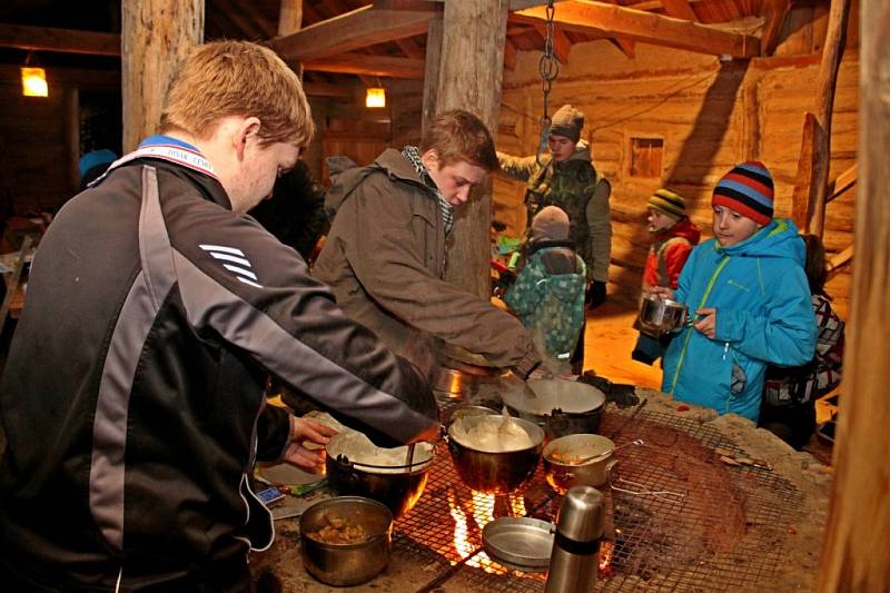
[[[464,416],[462,422],[468,429],[483,418],[500,421],[501,415]],[[532,446],[521,451],[493,453],[472,448],[454,437],[455,424],[448,425],[448,451],[461,480],[477,492],[510,494],[523,486],[535,473],[544,445],[544,431],[522,418],[511,418],[532,439]]]

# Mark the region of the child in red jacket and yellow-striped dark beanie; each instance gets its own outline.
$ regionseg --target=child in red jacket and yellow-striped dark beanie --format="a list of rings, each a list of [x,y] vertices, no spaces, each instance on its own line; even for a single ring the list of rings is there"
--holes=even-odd
[[[680,271],[701,236],[686,216],[686,200],[670,189],[659,189],[649,198],[646,223],[655,240],[643,269],[643,291],[655,286],[676,288]]]

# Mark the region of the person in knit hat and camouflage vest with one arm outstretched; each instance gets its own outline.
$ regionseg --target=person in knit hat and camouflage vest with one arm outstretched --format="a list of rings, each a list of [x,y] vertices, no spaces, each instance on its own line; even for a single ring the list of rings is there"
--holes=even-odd
[[[611,185],[596,174],[590,144],[581,140],[584,115],[565,105],[553,116],[550,155],[513,157],[497,154],[501,171],[526,182],[526,220],[545,206],[556,206],[568,215],[568,238],[575,244],[587,268],[586,302],[596,307],[605,300],[609,260],[612,251],[612,218],[609,208]]]

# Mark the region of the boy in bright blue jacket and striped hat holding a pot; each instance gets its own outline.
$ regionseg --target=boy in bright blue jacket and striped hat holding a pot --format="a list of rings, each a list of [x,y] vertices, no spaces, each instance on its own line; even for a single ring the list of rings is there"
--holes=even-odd
[[[736,165],[711,204],[714,238],[692,250],[675,294],[652,290],[695,316],[668,347],[662,391],[756,422],[767,365],[813,357],[804,245],[791,220],[773,219],[772,177],[760,162]]]

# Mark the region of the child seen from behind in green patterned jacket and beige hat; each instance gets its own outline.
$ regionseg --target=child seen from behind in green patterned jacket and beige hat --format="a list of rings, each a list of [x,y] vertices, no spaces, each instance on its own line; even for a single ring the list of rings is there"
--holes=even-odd
[[[535,215],[525,267],[504,296],[557,372],[568,364],[584,325],[586,266],[572,248],[568,229],[568,215],[555,206]]]

